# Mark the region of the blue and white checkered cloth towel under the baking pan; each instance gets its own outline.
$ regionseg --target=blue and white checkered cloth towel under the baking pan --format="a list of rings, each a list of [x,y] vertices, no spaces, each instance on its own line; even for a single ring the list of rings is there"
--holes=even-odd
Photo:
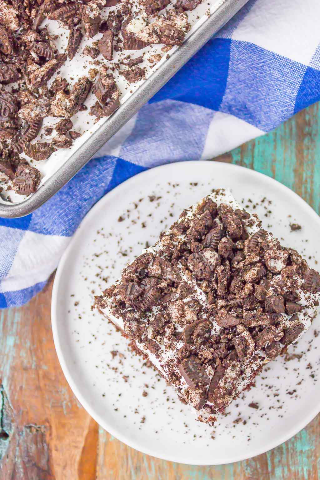
[[[212,158],[320,100],[319,18],[319,0],[249,0],[59,193],[0,219],[0,307],[45,286],[83,216],[120,182]]]

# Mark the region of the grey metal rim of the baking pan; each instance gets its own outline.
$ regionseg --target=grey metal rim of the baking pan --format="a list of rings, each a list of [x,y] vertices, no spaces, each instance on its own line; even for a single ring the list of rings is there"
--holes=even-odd
[[[85,138],[71,156],[39,187],[20,203],[0,203],[0,216],[17,218],[32,213],[62,188],[127,121],[137,113],[170,78],[228,21],[248,0],[221,0],[216,10],[191,33],[162,65],[137,88],[103,125]]]

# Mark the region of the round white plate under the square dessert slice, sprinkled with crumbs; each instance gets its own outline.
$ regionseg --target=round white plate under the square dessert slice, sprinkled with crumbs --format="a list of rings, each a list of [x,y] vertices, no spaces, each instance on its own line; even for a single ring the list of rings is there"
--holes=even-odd
[[[296,356],[271,362],[256,387],[234,401],[212,428],[196,421],[173,389],[128,350],[114,326],[91,311],[94,295],[119,276],[146,241],[154,243],[183,208],[219,187],[230,187],[247,210],[258,213],[263,228],[315,266],[320,218],[294,192],[247,168],[183,162],[145,171],[95,205],[61,259],[52,294],[59,361],[83,407],[133,448],[193,465],[259,455],[300,431],[320,411],[319,316],[290,348]],[[301,230],[291,231],[290,223],[300,224]],[[114,358],[111,351],[117,352]]]

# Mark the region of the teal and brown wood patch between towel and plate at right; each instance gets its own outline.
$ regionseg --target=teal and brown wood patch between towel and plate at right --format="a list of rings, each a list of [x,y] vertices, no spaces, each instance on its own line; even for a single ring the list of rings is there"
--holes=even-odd
[[[320,212],[320,108],[300,112],[276,130],[230,152],[231,163],[273,177]]]

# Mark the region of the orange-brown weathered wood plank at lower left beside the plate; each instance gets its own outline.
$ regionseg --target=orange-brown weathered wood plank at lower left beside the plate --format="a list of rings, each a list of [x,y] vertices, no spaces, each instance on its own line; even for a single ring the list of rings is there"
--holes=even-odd
[[[1,312],[1,480],[95,479],[98,428],[59,367],[51,287]]]

